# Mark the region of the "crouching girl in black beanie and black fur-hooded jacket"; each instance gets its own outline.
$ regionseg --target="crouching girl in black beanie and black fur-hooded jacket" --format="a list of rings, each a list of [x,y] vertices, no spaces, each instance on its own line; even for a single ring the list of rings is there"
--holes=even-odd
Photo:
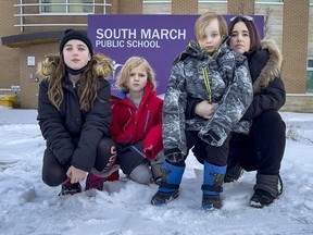
[[[79,182],[89,173],[86,189],[102,189],[109,176],[118,178],[104,78],[112,75],[112,61],[92,54],[87,35],[74,29],[65,32],[59,49],[60,55],[38,64],[38,73],[47,76],[39,86],[37,118],[47,143],[42,180],[49,186],[62,184],[60,195],[72,195],[82,191]]]

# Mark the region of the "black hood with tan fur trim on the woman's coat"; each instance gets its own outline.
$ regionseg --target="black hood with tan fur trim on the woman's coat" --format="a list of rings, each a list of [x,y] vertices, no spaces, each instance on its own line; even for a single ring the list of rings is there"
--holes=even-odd
[[[266,54],[264,54],[264,52]],[[249,57],[248,57],[249,58]],[[255,59],[254,59],[255,58]],[[254,59],[254,61],[253,61]],[[275,77],[280,77],[281,64],[283,64],[283,54],[277,47],[276,42],[273,40],[262,41],[262,50],[255,51],[251,54],[251,61],[249,60],[250,71],[254,70],[254,65],[265,63],[264,67],[260,72],[260,75],[256,79],[252,77],[253,82],[253,91],[254,94],[261,92],[264,88],[268,86],[271,82],[275,79]],[[261,65],[262,66],[262,65]],[[251,76],[253,76],[251,74]]]

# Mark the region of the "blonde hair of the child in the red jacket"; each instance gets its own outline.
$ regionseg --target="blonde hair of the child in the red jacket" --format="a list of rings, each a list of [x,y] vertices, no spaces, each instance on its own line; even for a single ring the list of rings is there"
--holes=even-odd
[[[155,82],[155,73],[149,62],[140,57],[130,57],[125,64],[123,65],[122,70],[120,71],[117,75],[117,79],[115,82],[116,87],[118,87],[121,90],[125,92],[129,92],[129,88],[127,86],[127,82],[130,76],[130,72],[134,67],[138,67],[140,65],[143,65],[143,67],[147,71],[148,75],[148,82],[152,84],[152,90],[156,88],[156,82]]]

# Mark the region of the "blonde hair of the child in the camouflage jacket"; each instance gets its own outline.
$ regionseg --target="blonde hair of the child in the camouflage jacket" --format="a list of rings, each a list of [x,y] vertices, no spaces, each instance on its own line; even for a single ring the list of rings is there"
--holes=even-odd
[[[227,29],[227,23],[225,18],[222,15],[218,15],[214,12],[206,12],[202,14],[200,17],[195,23],[195,36],[196,39],[199,41],[203,38],[204,35],[204,29],[205,27],[213,21],[217,20],[218,21],[218,29],[220,29],[220,35],[227,35],[228,29]]]

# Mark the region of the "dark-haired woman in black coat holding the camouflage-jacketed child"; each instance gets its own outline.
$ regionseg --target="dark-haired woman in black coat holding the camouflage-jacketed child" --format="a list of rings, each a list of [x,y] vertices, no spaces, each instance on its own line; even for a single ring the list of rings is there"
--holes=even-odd
[[[242,120],[252,121],[249,135],[235,133],[230,139],[224,181],[237,181],[242,169],[258,171],[250,206],[263,208],[283,193],[279,169],[285,151],[286,125],[278,113],[286,100],[280,79],[283,55],[274,41],[261,42],[251,16],[231,20],[228,27],[229,46],[248,58],[254,98],[242,116]],[[200,116],[212,115],[212,110],[203,100],[192,100],[188,106]],[[201,150],[193,149],[193,152],[203,162]]]

